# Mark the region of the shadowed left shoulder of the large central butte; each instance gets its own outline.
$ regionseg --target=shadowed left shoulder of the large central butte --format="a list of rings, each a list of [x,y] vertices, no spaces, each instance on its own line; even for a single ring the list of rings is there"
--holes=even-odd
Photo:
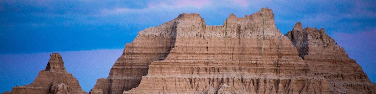
[[[139,32],[137,38],[126,44],[108,78],[98,79],[94,89],[102,89],[104,94],[121,94],[137,87],[141,77],[147,74],[148,65],[164,60],[174,47],[176,24],[168,22]]]

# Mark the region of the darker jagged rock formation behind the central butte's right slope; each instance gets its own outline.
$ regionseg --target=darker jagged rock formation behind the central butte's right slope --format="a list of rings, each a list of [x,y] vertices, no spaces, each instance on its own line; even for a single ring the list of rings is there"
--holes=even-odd
[[[350,59],[345,50],[334,39],[326,35],[322,28],[302,28],[296,23],[286,36],[299,52],[299,56],[309,65],[310,73],[328,80],[335,93],[376,93],[376,85],[355,60]]]

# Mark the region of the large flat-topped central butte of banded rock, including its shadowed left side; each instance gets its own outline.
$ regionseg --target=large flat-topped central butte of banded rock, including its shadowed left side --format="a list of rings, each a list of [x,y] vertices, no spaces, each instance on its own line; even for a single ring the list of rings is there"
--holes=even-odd
[[[206,26],[199,14],[180,14],[145,29],[94,89],[103,94],[331,92],[279,32],[268,8],[244,18],[231,14],[222,26]]]

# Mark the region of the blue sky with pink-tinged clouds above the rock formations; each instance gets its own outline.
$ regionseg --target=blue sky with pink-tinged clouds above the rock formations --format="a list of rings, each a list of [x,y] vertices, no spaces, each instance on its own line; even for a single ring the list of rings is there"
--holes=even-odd
[[[375,0],[0,0],[0,92],[33,82],[52,52],[88,92],[143,29],[192,12],[222,25],[264,7],[283,34],[296,22],[325,28],[376,82]]]

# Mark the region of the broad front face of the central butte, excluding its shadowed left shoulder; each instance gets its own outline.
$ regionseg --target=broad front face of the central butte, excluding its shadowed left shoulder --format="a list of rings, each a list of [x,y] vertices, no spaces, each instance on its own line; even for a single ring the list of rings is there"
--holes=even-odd
[[[199,14],[181,14],[174,48],[153,61],[138,87],[124,93],[327,93],[327,81],[309,74],[271,9],[222,26]]]

